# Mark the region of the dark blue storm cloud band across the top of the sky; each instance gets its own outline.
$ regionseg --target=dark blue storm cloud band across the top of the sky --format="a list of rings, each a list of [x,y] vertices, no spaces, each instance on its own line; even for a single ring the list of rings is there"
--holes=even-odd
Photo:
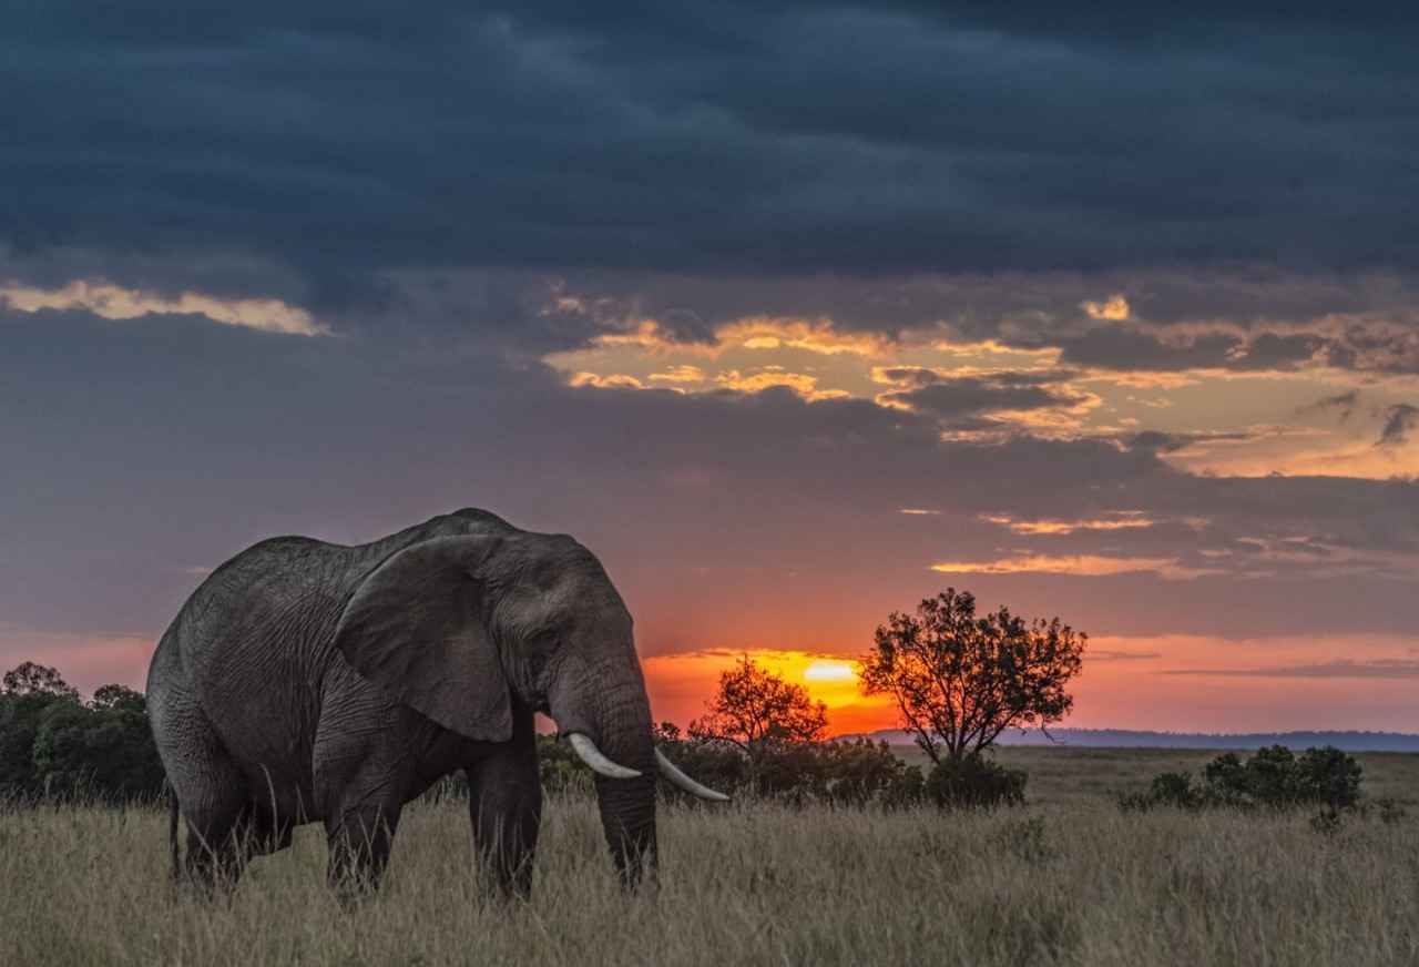
[[[26,4],[0,223],[274,260],[316,307],[396,267],[1413,266],[1412,17],[1208,20]]]

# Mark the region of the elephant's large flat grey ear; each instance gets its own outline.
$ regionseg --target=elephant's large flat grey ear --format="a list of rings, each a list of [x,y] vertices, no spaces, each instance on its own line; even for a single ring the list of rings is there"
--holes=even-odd
[[[335,646],[386,694],[444,728],[504,741],[512,703],[473,574],[487,540],[438,537],[387,558],[345,605]]]

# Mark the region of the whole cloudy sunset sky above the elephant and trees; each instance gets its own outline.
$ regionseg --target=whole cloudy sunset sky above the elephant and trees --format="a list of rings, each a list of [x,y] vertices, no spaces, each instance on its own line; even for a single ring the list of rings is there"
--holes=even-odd
[[[1000,4],[995,4],[1000,6]],[[653,713],[954,586],[1080,727],[1419,731],[1419,13],[131,0],[0,33],[0,665],[460,507]]]

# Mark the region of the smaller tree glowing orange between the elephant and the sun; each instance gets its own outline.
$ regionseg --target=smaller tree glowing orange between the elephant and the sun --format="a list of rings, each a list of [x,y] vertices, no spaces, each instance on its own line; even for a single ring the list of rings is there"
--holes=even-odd
[[[827,731],[827,706],[807,689],[755,665],[748,655],[719,673],[719,689],[705,714],[690,723],[691,738],[729,743],[758,771],[763,757],[785,743],[813,743]]]

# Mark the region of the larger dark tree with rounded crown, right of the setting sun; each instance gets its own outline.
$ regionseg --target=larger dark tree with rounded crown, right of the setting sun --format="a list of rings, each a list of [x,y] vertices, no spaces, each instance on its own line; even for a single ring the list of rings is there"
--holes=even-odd
[[[1003,606],[976,618],[975,596],[946,588],[915,615],[893,612],[857,674],[866,694],[891,696],[902,728],[939,765],[942,754],[961,761],[1006,728],[1063,720],[1087,640],[1059,618],[1026,622]]]

